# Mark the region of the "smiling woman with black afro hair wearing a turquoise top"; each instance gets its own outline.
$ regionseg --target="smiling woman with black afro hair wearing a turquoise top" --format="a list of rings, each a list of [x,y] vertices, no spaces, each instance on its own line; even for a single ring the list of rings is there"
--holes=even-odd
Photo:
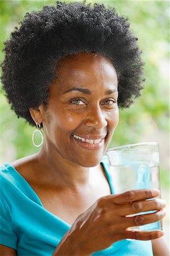
[[[5,43],[3,88],[43,146],[2,166],[1,255],[168,255],[161,230],[130,230],[165,216],[159,191],[111,195],[103,157],[118,106],[142,89],[136,40],[114,9],[57,2],[27,14]],[[126,217],[146,210],[156,212]]]

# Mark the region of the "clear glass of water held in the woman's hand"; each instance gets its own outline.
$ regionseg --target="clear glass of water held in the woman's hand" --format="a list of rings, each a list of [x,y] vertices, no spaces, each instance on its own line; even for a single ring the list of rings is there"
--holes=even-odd
[[[160,189],[158,143],[137,143],[110,148],[106,154],[109,158],[115,194],[134,189]],[[152,212],[155,211],[136,213],[127,217]],[[157,221],[131,229],[162,230],[162,222]]]

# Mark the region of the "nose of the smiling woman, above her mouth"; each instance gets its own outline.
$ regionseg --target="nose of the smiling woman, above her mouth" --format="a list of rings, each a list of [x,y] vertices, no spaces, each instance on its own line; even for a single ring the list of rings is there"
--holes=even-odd
[[[107,126],[105,115],[99,106],[89,110],[85,125],[88,127],[94,127],[96,130],[101,130],[103,127]]]

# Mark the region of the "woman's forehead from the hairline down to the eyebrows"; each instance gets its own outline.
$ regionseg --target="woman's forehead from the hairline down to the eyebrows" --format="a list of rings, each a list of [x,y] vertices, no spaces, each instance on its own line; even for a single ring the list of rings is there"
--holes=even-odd
[[[56,79],[49,86],[49,98],[60,97],[71,88],[84,88],[93,94],[117,90],[117,73],[107,57],[88,52],[67,56],[57,65]]]

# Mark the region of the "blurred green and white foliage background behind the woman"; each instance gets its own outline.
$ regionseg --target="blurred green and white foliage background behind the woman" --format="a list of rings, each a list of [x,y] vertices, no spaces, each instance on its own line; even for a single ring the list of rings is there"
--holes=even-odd
[[[62,2],[62,1],[61,1]],[[65,1],[70,2],[70,1]],[[81,1],[74,1],[81,2]],[[127,16],[139,38],[146,63],[142,97],[130,109],[121,110],[120,121],[110,147],[136,142],[159,142],[160,177],[164,197],[169,201],[169,1],[86,1],[100,2]],[[18,26],[24,14],[56,1],[0,1],[0,60],[3,42]],[[17,119],[1,90],[1,163],[34,154],[31,127]]]

